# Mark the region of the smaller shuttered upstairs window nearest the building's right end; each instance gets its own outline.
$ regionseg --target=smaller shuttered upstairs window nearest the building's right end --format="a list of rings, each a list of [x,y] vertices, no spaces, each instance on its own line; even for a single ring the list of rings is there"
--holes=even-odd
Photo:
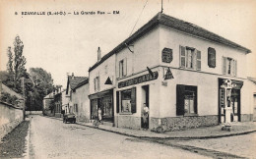
[[[223,74],[229,76],[236,76],[236,72],[237,61],[229,57],[223,57]]]

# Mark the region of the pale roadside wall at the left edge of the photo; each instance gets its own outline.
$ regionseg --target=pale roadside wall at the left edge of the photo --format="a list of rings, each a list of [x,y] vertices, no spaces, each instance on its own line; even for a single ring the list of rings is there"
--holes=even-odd
[[[0,101],[0,139],[23,122],[23,110]]]

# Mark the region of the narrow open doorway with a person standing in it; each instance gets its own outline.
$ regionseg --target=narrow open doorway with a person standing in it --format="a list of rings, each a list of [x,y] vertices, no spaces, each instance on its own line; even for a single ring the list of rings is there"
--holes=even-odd
[[[145,118],[144,105],[149,108],[149,115]],[[150,85],[142,86],[142,108],[141,108],[141,128],[149,129],[150,126]],[[146,119],[146,122],[144,121]]]

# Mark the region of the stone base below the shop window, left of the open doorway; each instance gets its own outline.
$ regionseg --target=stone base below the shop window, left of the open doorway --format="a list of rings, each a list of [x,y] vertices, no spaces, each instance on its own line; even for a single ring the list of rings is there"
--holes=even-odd
[[[116,127],[119,128],[126,128],[126,129],[134,129],[139,130],[141,129],[141,118],[140,117],[133,117],[133,116],[117,116],[116,117],[117,125]]]

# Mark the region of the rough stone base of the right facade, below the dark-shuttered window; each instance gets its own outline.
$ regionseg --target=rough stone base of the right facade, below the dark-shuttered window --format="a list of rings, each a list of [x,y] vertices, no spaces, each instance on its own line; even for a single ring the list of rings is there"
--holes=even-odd
[[[185,117],[167,117],[151,118],[150,129],[152,131],[160,127],[163,131],[178,131],[205,126],[216,126],[219,124],[218,116],[185,116]]]

